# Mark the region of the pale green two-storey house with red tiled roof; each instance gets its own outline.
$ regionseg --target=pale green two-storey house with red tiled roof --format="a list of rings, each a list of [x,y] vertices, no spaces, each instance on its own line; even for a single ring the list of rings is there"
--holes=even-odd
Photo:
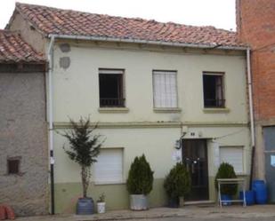
[[[151,207],[166,205],[163,181],[179,161],[191,174],[187,201],[216,200],[221,162],[248,180],[247,47],[235,33],[31,4],[16,4],[7,28],[48,56],[57,213],[74,212],[81,196],[80,170],[54,132],[69,129],[69,117],[91,115],[106,137],[89,193],[105,193],[108,209],[128,208],[125,180],[141,154],[154,170]]]

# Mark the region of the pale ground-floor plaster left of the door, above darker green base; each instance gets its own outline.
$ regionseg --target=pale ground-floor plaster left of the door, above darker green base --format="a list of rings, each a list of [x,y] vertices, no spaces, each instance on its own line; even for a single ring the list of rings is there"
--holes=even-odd
[[[141,154],[145,154],[152,170],[155,171],[154,178],[164,178],[174,165],[172,160],[174,142],[180,137],[181,130],[179,128],[104,129],[97,130],[97,133],[106,138],[102,148],[124,148],[124,179],[128,176],[133,158]],[[64,145],[69,147],[67,140],[56,134],[54,136],[54,154],[58,160],[55,162],[55,182],[80,182],[79,166],[69,160],[62,148]]]

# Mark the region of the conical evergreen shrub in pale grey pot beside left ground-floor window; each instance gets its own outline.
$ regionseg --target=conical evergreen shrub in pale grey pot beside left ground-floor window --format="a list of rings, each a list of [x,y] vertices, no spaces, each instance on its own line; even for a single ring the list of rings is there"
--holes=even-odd
[[[149,209],[147,195],[153,188],[153,173],[144,154],[134,158],[126,182],[127,190],[130,193],[131,209]]]

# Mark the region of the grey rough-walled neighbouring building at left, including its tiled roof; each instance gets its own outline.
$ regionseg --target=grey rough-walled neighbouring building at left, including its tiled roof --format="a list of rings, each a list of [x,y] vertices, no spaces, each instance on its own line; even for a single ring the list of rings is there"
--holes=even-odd
[[[0,30],[0,204],[48,212],[45,60],[20,33]]]

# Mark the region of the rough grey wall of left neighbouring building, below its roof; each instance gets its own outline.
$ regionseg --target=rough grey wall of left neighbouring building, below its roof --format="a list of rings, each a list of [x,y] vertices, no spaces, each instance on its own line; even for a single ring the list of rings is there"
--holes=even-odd
[[[48,213],[44,73],[0,73],[0,203],[20,216]],[[8,174],[19,159],[19,174]]]

